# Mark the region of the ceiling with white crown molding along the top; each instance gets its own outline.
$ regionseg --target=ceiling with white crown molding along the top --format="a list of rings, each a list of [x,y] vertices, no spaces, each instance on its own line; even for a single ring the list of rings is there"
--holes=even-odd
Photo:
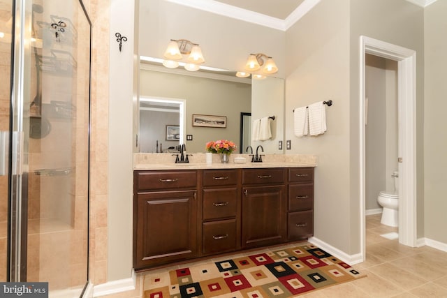
[[[286,31],[320,1],[335,0],[166,0],[210,13]],[[374,1],[374,0],[373,0]],[[425,7],[437,0],[406,0]],[[445,0],[444,0],[445,1]]]

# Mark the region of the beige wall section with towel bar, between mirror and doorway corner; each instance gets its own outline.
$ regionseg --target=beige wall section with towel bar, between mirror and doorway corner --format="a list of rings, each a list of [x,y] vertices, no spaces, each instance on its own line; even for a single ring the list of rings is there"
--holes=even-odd
[[[321,1],[286,34],[286,154],[316,154],[314,237],[346,253],[358,253],[351,239],[349,180],[349,1]],[[328,131],[318,137],[293,135],[293,109],[319,100]]]

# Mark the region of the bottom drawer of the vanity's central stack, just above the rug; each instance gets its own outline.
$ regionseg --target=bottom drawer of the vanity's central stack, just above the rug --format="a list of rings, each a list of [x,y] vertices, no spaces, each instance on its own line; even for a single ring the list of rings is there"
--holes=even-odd
[[[225,253],[235,251],[236,220],[212,221],[203,223],[202,253]]]

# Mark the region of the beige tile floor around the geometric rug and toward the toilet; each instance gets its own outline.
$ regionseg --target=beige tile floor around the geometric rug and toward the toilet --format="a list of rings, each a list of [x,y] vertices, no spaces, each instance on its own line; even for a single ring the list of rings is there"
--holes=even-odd
[[[366,260],[356,269],[367,277],[301,295],[300,298],[447,298],[447,253],[429,246],[411,248],[381,234],[397,232],[380,223],[381,214],[366,219]],[[228,256],[226,257],[228,258]],[[170,268],[164,269],[169,270]],[[137,275],[136,289],[107,298],[140,298],[145,276]]]

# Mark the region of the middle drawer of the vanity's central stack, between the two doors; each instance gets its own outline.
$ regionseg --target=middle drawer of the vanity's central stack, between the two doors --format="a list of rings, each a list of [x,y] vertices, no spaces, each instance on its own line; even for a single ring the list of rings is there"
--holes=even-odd
[[[203,220],[235,217],[238,193],[236,187],[204,189]]]

